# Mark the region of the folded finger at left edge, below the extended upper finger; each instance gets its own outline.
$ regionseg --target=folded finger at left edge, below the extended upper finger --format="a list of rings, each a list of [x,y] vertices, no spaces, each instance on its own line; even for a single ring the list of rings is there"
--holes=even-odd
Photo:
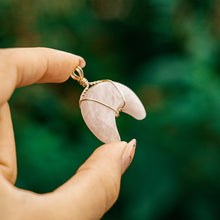
[[[8,103],[0,108],[0,174],[15,184],[17,161],[14,132]]]

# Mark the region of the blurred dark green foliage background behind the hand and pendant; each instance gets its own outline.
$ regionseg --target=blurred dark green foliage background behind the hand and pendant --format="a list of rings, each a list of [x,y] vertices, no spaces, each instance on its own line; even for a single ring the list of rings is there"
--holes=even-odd
[[[117,119],[137,151],[104,220],[220,219],[218,0],[0,0],[0,24],[2,48],[79,54],[89,81],[121,82],[143,101],[145,120]],[[18,187],[54,190],[101,145],[81,92],[71,79],[16,90]]]

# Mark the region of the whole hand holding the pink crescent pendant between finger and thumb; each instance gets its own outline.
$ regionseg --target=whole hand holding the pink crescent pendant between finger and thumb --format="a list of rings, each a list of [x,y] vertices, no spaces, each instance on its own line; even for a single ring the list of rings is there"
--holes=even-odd
[[[17,87],[67,80],[85,61],[46,48],[0,50],[0,215],[2,220],[100,219],[116,201],[121,175],[130,165],[136,141],[97,148],[76,174],[46,194],[18,189],[16,150],[8,100]],[[31,157],[31,155],[30,155]]]

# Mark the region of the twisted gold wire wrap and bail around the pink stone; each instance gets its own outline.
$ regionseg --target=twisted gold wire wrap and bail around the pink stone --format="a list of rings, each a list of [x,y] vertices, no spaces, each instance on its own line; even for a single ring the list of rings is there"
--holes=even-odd
[[[78,74],[76,74],[75,71],[76,71]],[[75,71],[72,72],[71,77],[72,77],[74,80],[78,81],[80,85],[82,85],[83,87],[85,87],[85,89],[83,90],[82,94],[80,95],[79,106],[81,107],[81,102],[83,102],[83,101],[96,102],[96,103],[99,103],[99,104],[101,104],[101,105],[103,105],[103,106],[105,106],[105,107],[107,107],[107,108],[113,110],[113,111],[115,112],[115,117],[119,117],[119,114],[120,114],[120,112],[123,110],[123,108],[124,108],[126,102],[125,102],[125,97],[124,97],[123,93],[122,93],[121,90],[117,87],[117,85],[116,85],[113,81],[111,81],[111,80],[109,80],[109,79],[104,79],[104,80],[98,80],[98,81],[94,81],[94,82],[89,82],[89,81],[84,77],[84,73],[83,73],[83,70],[82,70],[81,67],[78,66],[78,67],[75,69]],[[97,85],[97,84],[102,83],[102,82],[109,82],[109,83],[111,83],[111,84],[117,89],[117,91],[119,92],[120,96],[122,97],[123,104],[122,104],[122,106],[120,106],[118,109],[115,109],[115,108],[113,108],[112,106],[110,106],[110,105],[108,105],[108,104],[106,104],[106,103],[104,103],[104,102],[101,102],[101,101],[99,101],[99,100],[93,99],[93,98],[84,98],[85,95],[86,95],[86,92],[89,90],[89,86]]]

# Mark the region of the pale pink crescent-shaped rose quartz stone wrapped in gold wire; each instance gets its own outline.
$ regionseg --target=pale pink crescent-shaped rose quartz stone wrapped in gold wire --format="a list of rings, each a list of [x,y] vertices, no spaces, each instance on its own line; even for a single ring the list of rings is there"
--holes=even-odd
[[[137,95],[127,86],[118,82],[114,83],[125,98],[126,104],[122,112],[138,120],[144,119],[146,111]],[[115,109],[118,109],[123,104],[120,92],[110,82],[101,82],[92,86],[84,98],[98,100]],[[85,100],[81,102],[81,113],[88,128],[100,141],[112,143],[121,140],[115,121],[115,112],[112,109],[100,103]]]

